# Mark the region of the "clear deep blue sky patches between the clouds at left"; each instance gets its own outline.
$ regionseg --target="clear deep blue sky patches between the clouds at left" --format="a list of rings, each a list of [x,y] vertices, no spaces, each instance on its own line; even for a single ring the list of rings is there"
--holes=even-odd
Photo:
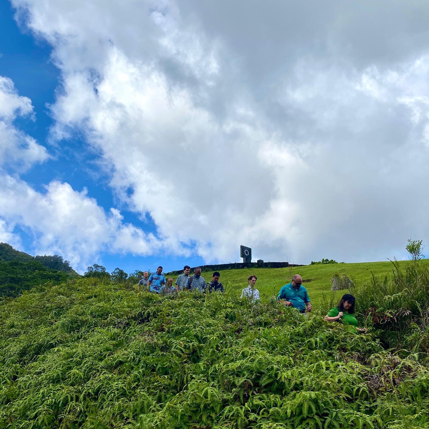
[[[97,156],[85,142],[74,136],[68,139],[66,144],[49,144],[49,129],[53,121],[48,105],[55,101],[55,91],[60,85],[60,71],[51,60],[51,46],[42,38],[35,37],[25,26],[18,25],[14,14],[15,11],[9,3],[0,4],[0,75],[12,79],[18,93],[29,97],[34,106],[36,120],[17,118],[16,126],[33,136],[41,145],[45,145],[53,155],[51,160],[34,165],[21,173],[21,179],[42,193],[45,191],[45,185],[52,180],[67,182],[79,191],[85,187],[88,189],[88,196],[97,199],[98,204],[106,210],[121,207],[121,203],[109,190],[109,178],[97,166]],[[12,167],[5,166],[4,170],[12,173]],[[150,218],[142,222],[138,215],[130,211],[123,210],[121,214],[124,216],[124,222],[156,234],[156,225]],[[20,227],[15,227],[14,232],[21,237],[23,244],[19,250],[34,254],[33,244],[34,240],[37,240],[37,234],[29,233],[26,228]],[[97,254],[93,262],[102,263],[108,271],[119,266],[126,272],[136,269],[154,271],[158,265],[168,271],[180,269],[185,263],[191,266],[203,263],[202,258],[197,255],[185,259],[163,254],[142,257],[131,253],[112,254],[108,251]]]

